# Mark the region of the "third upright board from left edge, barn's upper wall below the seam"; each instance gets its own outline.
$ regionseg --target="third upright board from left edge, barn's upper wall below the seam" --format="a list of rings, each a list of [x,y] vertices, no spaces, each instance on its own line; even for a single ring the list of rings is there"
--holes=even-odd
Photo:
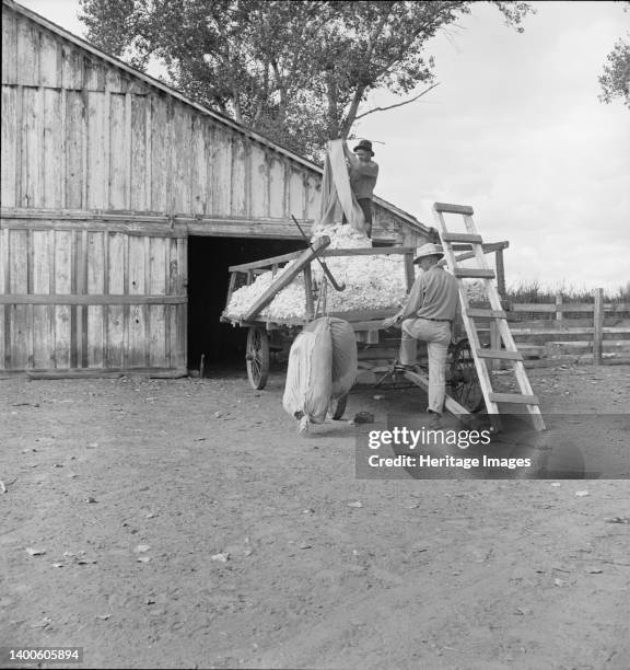
[[[63,196],[63,132],[61,91],[44,89],[43,186],[44,207],[59,209]]]

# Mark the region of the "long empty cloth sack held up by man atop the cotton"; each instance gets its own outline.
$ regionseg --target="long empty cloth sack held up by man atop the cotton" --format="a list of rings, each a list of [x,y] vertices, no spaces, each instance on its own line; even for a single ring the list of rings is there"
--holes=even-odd
[[[330,140],[324,160],[318,223],[319,226],[339,223],[343,215],[354,230],[365,233],[365,216],[350,188],[343,140]]]

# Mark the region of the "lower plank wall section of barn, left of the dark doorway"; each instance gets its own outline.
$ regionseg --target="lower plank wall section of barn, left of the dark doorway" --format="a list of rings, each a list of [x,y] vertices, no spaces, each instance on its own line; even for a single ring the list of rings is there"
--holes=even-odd
[[[12,221],[0,231],[0,367],[186,366],[186,238]]]

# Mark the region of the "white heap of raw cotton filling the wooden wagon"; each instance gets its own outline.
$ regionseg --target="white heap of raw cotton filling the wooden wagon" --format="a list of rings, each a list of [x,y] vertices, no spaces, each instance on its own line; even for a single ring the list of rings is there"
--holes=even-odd
[[[363,233],[357,232],[350,226],[341,223],[319,227],[313,230],[312,242],[317,238],[328,235],[330,244],[327,249],[371,249],[372,242]],[[249,286],[244,286],[232,294],[226,313],[241,317],[249,307],[269,288],[272,281],[288,272],[294,264],[289,262],[273,274],[262,273]],[[328,285],[326,291],[326,311],[335,313],[374,310],[396,310],[402,305],[407,294],[405,279],[405,263],[401,254],[331,256],[326,258],[326,265],[338,284],[346,284],[346,290],[336,291]],[[317,262],[311,264],[316,289],[322,286],[324,270]],[[416,270],[418,274],[418,269]],[[465,282],[465,290],[475,300],[481,292],[480,282]],[[304,276],[302,273],[257,316],[262,320],[305,319],[306,297],[304,292]]]

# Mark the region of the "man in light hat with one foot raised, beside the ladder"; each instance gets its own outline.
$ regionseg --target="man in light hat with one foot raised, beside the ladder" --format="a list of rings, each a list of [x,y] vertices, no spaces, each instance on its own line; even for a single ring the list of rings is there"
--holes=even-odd
[[[413,370],[417,362],[417,340],[427,343],[429,355],[429,412],[433,424],[440,424],[446,394],[446,356],[452,339],[453,322],[459,307],[459,282],[445,272],[439,261],[443,257],[440,244],[424,244],[413,259],[423,270],[413,282],[407,303],[383,327],[402,328],[400,371]]]

